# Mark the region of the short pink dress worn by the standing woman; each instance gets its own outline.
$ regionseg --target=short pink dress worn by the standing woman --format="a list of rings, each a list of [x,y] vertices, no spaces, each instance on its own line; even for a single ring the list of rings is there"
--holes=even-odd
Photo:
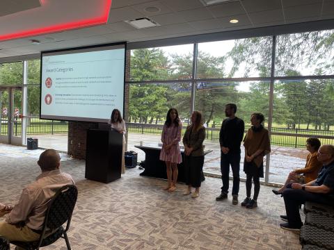
[[[168,161],[170,163],[182,163],[179,142],[181,140],[182,123],[179,126],[171,124],[169,127],[164,125],[161,133],[162,149],[160,152],[160,160]],[[173,143],[168,151],[164,149],[165,145]]]

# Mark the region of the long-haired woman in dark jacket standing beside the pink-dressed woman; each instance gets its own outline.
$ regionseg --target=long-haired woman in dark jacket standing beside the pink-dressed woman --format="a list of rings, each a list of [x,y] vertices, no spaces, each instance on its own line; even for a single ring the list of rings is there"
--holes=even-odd
[[[196,188],[191,195],[197,198],[200,195],[200,183],[202,181],[202,169],[204,164],[203,141],[205,139],[205,127],[202,123],[202,114],[193,111],[191,125],[186,128],[183,136],[184,144],[184,169],[186,175],[187,190],[184,195],[191,193],[191,187]]]

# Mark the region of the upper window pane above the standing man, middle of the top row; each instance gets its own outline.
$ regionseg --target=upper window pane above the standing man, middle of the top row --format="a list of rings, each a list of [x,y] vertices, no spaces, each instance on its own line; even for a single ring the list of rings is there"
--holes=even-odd
[[[271,47],[271,37],[200,43],[197,77],[270,76]]]

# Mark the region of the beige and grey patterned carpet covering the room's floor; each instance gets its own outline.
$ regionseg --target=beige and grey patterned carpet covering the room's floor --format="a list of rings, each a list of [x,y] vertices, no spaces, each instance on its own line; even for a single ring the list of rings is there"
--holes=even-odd
[[[13,203],[39,174],[36,159],[0,154],[0,202]],[[127,169],[122,178],[104,184],[84,178],[83,160],[64,160],[79,198],[72,217],[72,249],[301,249],[299,234],[279,227],[283,199],[261,187],[258,208],[233,206],[232,198],[215,201],[221,180],[206,178],[200,197],[183,196],[184,185],[169,194],[165,181],[141,177]],[[241,183],[239,199],[244,199]],[[1,218],[2,219],[2,218]],[[12,248],[13,249],[13,248]],[[43,249],[66,249],[65,241]]]

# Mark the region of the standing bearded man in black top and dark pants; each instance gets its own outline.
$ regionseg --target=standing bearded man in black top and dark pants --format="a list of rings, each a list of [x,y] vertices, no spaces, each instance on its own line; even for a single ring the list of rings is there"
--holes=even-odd
[[[240,183],[240,144],[244,137],[245,124],[235,116],[237,105],[228,103],[225,106],[226,119],[221,124],[219,143],[221,144],[221,179],[223,187],[216,201],[228,198],[230,165],[233,173],[232,204],[237,205]]]

